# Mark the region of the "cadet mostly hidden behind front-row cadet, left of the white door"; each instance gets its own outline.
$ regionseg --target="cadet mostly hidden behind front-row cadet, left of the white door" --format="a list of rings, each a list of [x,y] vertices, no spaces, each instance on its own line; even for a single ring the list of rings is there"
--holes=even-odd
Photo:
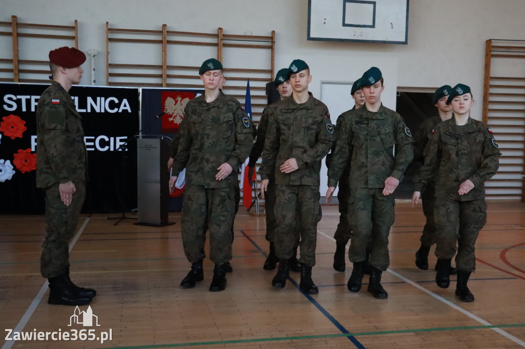
[[[290,85],[290,70],[288,68],[283,68],[277,72],[275,75],[274,85],[279,91],[281,96],[281,101],[289,97],[292,93],[292,88]],[[274,103],[275,104],[275,103]],[[273,104],[272,104],[273,105]],[[259,121],[259,126],[257,127],[257,140],[254,143],[254,147],[251,149],[251,154],[248,161],[248,178],[253,178],[255,173],[255,164],[257,159],[262,154],[262,148],[264,147],[264,142],[266,139],[266,130],[268,129],[268,118],[270,116],[271,105],[264,108],[262,111],[262,116]],[[270,251],[268,257],[265,260],[264,270],[274,270],[276,267],[279,258],[275,254],[275,244],[274,244],[274,233],[277,222],[275,220],[274,206],[275,206],[275,178],[274,173],[269,174],[269,183],[265,192],[265,210],[266,210],[266,241],[270,243]],[[296,243],[293,248],[293,255],[290,259],[290,269],[292,271],[299,272],[301,271],[301,265],[297,260],[297,247],[299,246],[299,227],[296,226],[295,229]]]

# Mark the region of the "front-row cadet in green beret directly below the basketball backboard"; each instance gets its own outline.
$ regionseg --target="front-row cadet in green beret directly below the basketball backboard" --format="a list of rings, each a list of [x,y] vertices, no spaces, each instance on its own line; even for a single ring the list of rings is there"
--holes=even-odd
[[[375,67],[361,77],[365,106],[343,117],[330,167],[327,202],[350,161],[350,207],[352,220],[349,257],[353,270],[348,289],[359,292],[366,259],[366,245],[372,243],[372,265],[368,291],[384,299],[381,274],[388,268],[388,234],[394,223],[394,190],[412,161],[412,137],[401,115],[381,103],[384,90],[381,71]],[[396,155],[394,157],[394,146]]]

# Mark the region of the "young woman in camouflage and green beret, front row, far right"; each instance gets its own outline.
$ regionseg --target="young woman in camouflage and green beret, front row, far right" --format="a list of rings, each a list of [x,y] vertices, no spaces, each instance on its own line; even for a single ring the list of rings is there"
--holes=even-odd
[[[456,296],[472,302],[467,282],[476,270],[476,239],[487,221],[485,181],[498,170],[500,151],[487,125],[470,117],[474,100],[469,86],[454,86],[447,103],[452,105],[454,118],[436,125],[425,148],[425,163],[416,173],[414,195],[417,203],[421,189],[438,171],[434,217],[440,264],[436,283],[441,288],[449,286],[450,260],[457,250]]]

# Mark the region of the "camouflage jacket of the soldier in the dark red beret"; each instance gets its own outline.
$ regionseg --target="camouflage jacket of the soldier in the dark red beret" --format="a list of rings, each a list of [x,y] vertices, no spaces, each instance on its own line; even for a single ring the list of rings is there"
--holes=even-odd
[[[40,96],[36,118],[37,187],[85,182],[87,152],[82,119],[71,96],[58,82],[53,81]]]

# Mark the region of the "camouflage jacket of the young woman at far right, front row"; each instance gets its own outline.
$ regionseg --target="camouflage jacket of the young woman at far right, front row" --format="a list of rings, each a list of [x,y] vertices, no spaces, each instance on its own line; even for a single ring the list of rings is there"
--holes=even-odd
[[[438,171],[436,198],[469,201],[485,198],[484,183],[498,170],[500,152],[487,125],[469,117],[466,125],[457,126],[453,117],[436,125],[424,155],[415,190],[421,191]],[[474,189],[459,195],[459,186],[467,179]]]

